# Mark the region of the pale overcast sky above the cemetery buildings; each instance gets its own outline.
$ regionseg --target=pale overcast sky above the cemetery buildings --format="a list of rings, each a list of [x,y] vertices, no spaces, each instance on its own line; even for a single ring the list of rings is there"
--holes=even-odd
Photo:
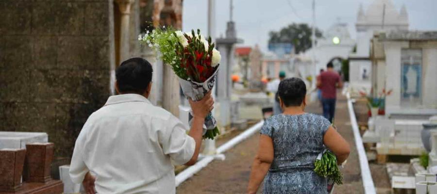
[[[224,35],[229,20],[229,1],[216,0],[216,37]],[[373,0],[316,0],[316,26],[324,31],[339,19],[348,23],[355,37],[355,21],[360,3],[366,11]],[[184,0],[183,30],[207,33],[208,0]],[[437,31],[437,0],[393,0],[396,8],[406,5],[410,30]],[[234,18],[241,46],[260,45],[267,50],[269,31],[296,22],[311,24],[311,0],[234,0]]]

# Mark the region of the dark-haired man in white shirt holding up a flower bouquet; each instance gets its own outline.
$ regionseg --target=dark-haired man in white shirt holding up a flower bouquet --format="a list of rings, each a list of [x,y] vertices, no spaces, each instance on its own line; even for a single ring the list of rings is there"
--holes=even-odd
[[[194,119],[187,135],[178,118],[147,99],[152,71],[142,58],[123,62],[116,70],[119,95],[109,97],[84,124],[69,173],[87,194],[174,194],[171,161],[196,163],[204,118],[214,100],[211,94],[190,100]]]

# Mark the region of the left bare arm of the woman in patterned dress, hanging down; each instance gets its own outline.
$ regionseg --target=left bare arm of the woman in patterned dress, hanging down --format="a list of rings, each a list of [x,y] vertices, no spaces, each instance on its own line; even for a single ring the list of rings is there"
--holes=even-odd
[[[251,177],[247,188],[248,194],[255,194],[264,180],[273,162],[273,140],[267,135],[260,135],[258,153],[252,163]]]

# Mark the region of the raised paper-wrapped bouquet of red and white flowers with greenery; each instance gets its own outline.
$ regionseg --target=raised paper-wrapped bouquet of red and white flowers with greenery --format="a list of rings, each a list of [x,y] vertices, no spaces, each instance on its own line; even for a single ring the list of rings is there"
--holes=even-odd
[[[138,40],[160,53],[158,57],[171,66],[186,97],[198,101],[213,88],[221,55],[211,37],[206,40],[200,30],[184,33],[164,26],[139,35]],[[188,117],[191,124],[192,112]],[[209,113],[203,125],[203,139],[214,139],[218,134],[217,121]]]

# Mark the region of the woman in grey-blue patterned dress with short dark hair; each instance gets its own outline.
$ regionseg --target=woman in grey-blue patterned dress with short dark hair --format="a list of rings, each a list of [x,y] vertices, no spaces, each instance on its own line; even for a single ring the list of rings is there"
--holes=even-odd
[[[264,179],[264,194],[326,194],[326,178],[314,172],[314,161],[327,147],[341,164],[349,156],[349,144],[323,116],[304,112],[301,79],[281,81],[278,93],[284,113],[261,128],[248,193],[255,194]]]

